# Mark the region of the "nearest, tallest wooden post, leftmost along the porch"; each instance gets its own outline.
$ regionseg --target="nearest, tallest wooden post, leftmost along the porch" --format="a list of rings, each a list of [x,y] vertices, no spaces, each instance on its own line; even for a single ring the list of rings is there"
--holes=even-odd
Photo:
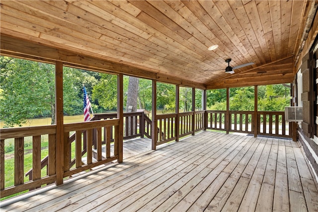
[[[63,121],[63,63],[55,63],[55,124],[56,124],[56,185],[63,184],[64,121]],[[50,166],[50,165],[49,165]]]

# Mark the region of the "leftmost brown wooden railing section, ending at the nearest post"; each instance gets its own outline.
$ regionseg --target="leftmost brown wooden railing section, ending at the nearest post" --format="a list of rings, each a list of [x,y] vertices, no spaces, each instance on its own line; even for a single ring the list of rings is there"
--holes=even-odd
[[[48,138],[48,155],[46,171],[41,174],[41,136]],[[24,140],[32,137],[32,169],[33,174],[30,180],[24,179]],[[6,140],[14,140],[14,169],[5,168],[4,147]],[[30,138],[27,138],[30,139]],[[0,148],[0,196],[6,197],[25,190],[32,190],[42,185],[54,183],[56,180],[56,126],[24,127],[1,129]],[[8,172],[13,171],[14,186],[5,186]]]

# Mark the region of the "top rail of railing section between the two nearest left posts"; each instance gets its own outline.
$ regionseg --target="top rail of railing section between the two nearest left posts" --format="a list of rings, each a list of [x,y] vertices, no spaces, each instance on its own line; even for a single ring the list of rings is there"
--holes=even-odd
[[[84,123],[73,123],[64,124],[64,132],[89,130],[99,127],[110,127],[119,125],[119,119],[101,120],[101,121],[90,121]]]

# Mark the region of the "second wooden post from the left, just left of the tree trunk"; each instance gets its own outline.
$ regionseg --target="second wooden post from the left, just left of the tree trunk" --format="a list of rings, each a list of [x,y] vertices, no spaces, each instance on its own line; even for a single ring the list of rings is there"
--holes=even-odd
[[[123,74],[117,76],[117,118],[119,119],[118,127],[118,163],[123,162],[123,133],[124,133],[124,79]]]

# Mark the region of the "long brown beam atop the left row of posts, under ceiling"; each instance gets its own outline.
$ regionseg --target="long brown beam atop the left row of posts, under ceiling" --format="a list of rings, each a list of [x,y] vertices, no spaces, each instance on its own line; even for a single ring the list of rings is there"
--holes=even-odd
[[[189,80],[177,79],[166,74],[147,71],[107,60],[96,59],[76,52],[52,48],[37,43],[31,43],[30,41],[12,38],[5,34],[0,35],[0,55],[51,64],[55,61],[62,61],[66,66],[74,68],[112,74],[123,73],[129,76],[157,79],[158,81],[165,83],[206,89],[206,86],[203,83],[201,84]]]

